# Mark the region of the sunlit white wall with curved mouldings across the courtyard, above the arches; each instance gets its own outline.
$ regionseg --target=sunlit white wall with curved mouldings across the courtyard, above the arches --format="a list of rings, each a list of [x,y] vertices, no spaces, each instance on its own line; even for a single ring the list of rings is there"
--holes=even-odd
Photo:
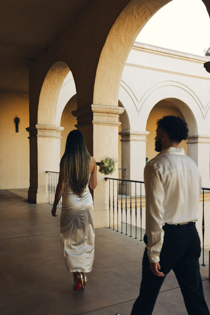
[[[142,43],[134,43],[122,74],[120,100],[132,115],[131,129],[145,130],[152,107],[164,98],[177,98],[196,117],[197,132],[209,133],[210,75],[203,67],[208,58]],[[127,104],[123,102],[126,90]],[[180,108],[179,108],[180,110]],[[186,109],[185,109],[186,111]],[[183,113],[183,116],[189,116]],[[146,118],[146,119],[145,119]],[[185,117],[186,119],[186,117]]]

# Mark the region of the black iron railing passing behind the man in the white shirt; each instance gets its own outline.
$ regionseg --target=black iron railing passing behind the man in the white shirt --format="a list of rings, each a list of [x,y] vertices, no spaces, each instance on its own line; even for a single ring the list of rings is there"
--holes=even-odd
[[[132,211],[135,211],[135,239],[137,239],[137,213],[138,213],[138,207],[137,207],[137,200],[140,199],[139,203],[139,212],[140,212],[140,241],[142,241],[142,203],[143,203],[143,196],[142,196],[142,184],[144,184],[144,181],[138,181],[138,180],[126,180],[126,179],[119,179],[119,178],[111,178],[111,177],[105,177],[105,180],[109,181],[109,228],[111,228],[111,207],[113,211],[113,230],[115,230],[115,226],[117,231],[119,227],[119,208],[121,210],[121,233],[122,232],[122,226],[123,226],[123,208],[125,212],[125,235],[128,235],[128,223],[127,223],[127,216],[128,211],[130,210],[130,237],[132,237]],[[110,182],[112,181],[112,183]],[[119,191],[119,182],[121,182],[121,191]],[[122,182],[125,184],[125,195],[123,196],[122,191]],[[115,189],[115,183],[116,183],[116,189]],[[129,186],[127,185],[129,183]],[[134,183],[134,193],[132,195],[132,183]],[[140,194],[137,194],[137,186],[140,185]],[[127,194],[127,187],[129,188],[129,192]],[[202,195],[203,195],[203,209],[202,209],[202,256],[203,256],[203,263],[202,266],[205,266],[204,264],[204,234],[205,234],[205,224],[204,224],[204,191],[209,191],[210,188],[202,187]],[[111,190],[113,193],[111,194]],[[112,196],[111,196],[112,195]],[[111,200],[113,198],[113,200]],[[133,206],[132,206],[133,204]],[[115,223],[115,211],[116,213],[116,223]]]

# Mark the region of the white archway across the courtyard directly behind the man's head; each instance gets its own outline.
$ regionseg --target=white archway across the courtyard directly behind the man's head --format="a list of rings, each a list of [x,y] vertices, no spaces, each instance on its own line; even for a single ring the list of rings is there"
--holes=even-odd
[[[207,107],[184,84],[174,81],[160,82],[148,89],[139,101],[139,124],[141,126],[146,128],[152,108],[162,100],[170,102],[178,108],[187,122],[189,126],[187,153],[199,167],[202,185],[208,187],[210,148],[207,144],[209,144],[210,136],[205,132],[207,130]]]

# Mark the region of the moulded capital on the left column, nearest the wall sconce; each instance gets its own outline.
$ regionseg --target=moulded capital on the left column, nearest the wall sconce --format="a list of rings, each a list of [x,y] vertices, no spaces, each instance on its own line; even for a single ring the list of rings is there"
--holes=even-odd
[[[56,125],[44,125],[44,124],[36,124],[35,128],[28,127],[26,131],[29,132],[28,139],[35,137],[48,137],[48,138],[62,138],[60,136],[61,132],[64,130],[64,127],[56,126]]]

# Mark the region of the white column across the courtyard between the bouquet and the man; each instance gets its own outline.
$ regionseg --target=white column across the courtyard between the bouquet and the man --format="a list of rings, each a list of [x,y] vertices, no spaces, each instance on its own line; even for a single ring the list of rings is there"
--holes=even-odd
[[[119,132],[119,135],[122,142],[122,168],[126,168],[126,179],[144,181],[146,137],[149,131],[124,130]],[[129,186],[128,183],[127,194],[130,193]],[[140,186],[137,185],[137,189],[138,187]]]

